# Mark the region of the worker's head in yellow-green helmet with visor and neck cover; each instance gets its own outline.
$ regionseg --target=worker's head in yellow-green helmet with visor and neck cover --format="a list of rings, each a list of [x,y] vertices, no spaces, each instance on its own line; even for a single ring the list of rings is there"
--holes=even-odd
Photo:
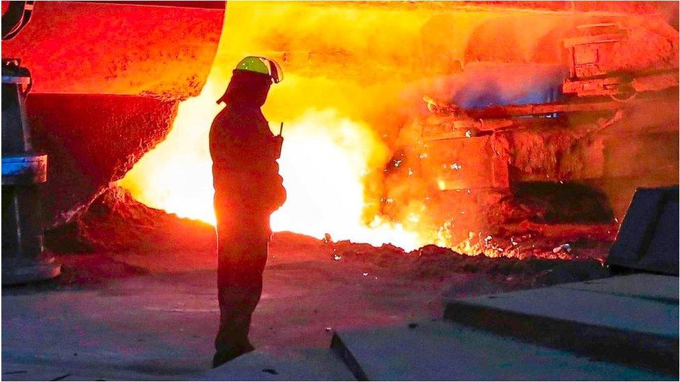
[[[233,70],[229,86],[217,103],[262,106],[272,83],[279,83],[283,75],[275,61],[256,56],[243,58]]]

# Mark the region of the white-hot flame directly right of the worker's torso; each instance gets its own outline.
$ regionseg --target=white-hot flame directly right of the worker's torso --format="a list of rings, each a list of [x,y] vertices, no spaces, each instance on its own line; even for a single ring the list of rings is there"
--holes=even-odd
[[[272,215],[273,230],[373,245],[419,246],[417,234],[376,217],[366,225],[364,177],[384,163],[387,148],[371,128],[333,110],[307,111],[284,128],[280,173],[288,199]]]

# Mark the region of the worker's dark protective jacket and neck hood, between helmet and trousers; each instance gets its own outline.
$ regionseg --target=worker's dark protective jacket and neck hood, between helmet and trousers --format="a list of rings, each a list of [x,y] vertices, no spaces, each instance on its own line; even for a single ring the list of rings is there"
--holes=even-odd
[[[281,141],[272,134],[261,106],[269,77],[234,70],[229,87],[217,101],[226,107],[210,128],[210,156],[216,202],[234,209],[271,214],[286,200],[279,175]]]

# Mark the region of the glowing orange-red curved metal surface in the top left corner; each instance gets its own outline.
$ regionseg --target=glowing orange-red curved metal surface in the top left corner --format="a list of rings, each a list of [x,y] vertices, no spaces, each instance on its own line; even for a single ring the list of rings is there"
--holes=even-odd
[[[185,99],[206,81],[224,8],[38,1],[3,56],[22,58],[35,93]]]

